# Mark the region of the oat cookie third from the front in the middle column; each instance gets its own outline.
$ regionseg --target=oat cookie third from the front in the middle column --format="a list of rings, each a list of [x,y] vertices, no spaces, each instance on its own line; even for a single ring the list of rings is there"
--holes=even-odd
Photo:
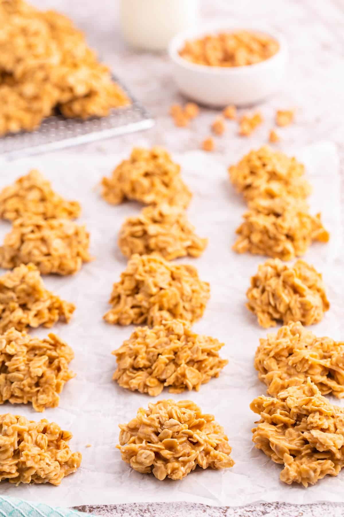
[[[113,284],[104,320],[118,325],[157,325],[179,318],[199,320],[210,296],[197,269],[176,266],[157,255],[132,255],[121,280]]]

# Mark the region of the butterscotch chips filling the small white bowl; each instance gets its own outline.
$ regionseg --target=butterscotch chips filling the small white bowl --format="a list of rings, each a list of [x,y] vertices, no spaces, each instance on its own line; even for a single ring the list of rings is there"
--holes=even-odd
[[[237,67],[265,61],[279,49],[279,43],[268,34],[235,31],[187,40],[179,55],[197,65]]]

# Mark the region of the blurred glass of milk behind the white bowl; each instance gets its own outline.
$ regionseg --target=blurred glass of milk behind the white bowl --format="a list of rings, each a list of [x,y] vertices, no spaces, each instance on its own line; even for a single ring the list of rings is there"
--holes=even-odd
[[[126,42],[141,50],[161,51],[178,32],[196,24],[199,0],[120,0]]]

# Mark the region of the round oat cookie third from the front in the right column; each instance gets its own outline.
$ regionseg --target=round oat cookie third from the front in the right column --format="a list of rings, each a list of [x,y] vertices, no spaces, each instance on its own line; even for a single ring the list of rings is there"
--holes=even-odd
[[[313,325],[330,308],[321,274],[302,260],[293,266],[279,258],[260,264],[246,295],[246,307],[264,328],[274,327],[276,321]]]

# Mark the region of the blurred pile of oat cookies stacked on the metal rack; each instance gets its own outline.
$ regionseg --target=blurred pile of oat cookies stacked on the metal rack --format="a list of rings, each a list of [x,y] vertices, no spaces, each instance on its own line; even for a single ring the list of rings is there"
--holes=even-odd
[[[0,135],[32,131],[58,110],[104,117],[129,103],[83,33],[55,11],[0,1]]]

